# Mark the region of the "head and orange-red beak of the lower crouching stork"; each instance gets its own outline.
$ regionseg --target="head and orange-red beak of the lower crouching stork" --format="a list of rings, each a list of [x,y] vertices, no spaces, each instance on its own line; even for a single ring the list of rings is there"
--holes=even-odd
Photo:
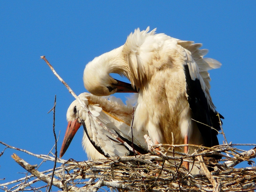
[[[67,151],[74,135],[81,126],[81,121],[77,113],[77,100],[73,101],[67,111],[68,127],[63,139],[63,143],[60,150],[60,157]]]

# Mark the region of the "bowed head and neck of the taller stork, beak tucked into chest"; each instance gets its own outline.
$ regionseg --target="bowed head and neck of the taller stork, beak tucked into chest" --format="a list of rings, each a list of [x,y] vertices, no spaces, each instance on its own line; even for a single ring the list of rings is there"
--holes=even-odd
[[[90,61],[83,73],[84,87],[93,95],[105,96],[116,92],[137,92],[130,83],[112,78],[110,73],[127,77],[127,65],[122,56],[123,46],[107,52]]]

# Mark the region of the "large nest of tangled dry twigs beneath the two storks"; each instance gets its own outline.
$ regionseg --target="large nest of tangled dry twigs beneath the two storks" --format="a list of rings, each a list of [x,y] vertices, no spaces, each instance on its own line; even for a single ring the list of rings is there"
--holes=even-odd
[[[61,166],[56,167],[52,180],[52,169],[39,172],[35,169],[37,165],[30,165],[13,154],[12,158],[31,175],[0,184],[0,187],[3,187],[2,189],[6,192],[38,191],[40,188],[47,188],[49,184],[64,191],[77,192],[98,191],[103,186],[119,191],[253,191],[256,189],[256,167],[233,167],[243,161],[252,165],[254,162],[250,159],[255,158],[256,148],[243,151],[237,148],[239,145],[242,144],[230,143],[214,148],[197,146],[200,151],[187,155],[174,150],[184,145],[159,144],[151,146],[150,153],[140,156],[83,162],[57,158],[57,163],[61,163]],[[195,147],[195,145],[189,146]],[[49,155],[36,155],[22,151],[44,160],[55,161],[55,157]],[[221,155],[222,159],[217,162],[214,158],[207,157],[215,154]],[[191,168],[186,170],[182,165],[185,161],[192,167],[198,167],[199,174],[192,174]],[[208,168],[214,170],[209,172]],[[32,177],[36,179],[29,180]],[[47,185],[33,187],[40,180]],[[14,186],[9,187],[11,185]]]

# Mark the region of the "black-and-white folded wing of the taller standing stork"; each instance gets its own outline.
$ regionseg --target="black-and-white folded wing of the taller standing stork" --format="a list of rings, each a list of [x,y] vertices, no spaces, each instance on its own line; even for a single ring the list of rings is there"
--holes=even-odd
[[[212,147],[219,145],[216,130],[220,130],[220,123],[217,116],[218,112],[215,110],[209,93],[209,81],[211,79],[208,70],[219,68],[221,63],[211,58],[203,58],[208,51],[206,49],[200,50],[201,46],[202,44],[193,44],[193,41],[178,41],[178,51],[182,52],[181,55],[185,61],[184,71],[188,103],[193,118],[200,122],[197,122],[197,126],[204,138],[205,145]],[[224,119],[222,115],[220,118]]]

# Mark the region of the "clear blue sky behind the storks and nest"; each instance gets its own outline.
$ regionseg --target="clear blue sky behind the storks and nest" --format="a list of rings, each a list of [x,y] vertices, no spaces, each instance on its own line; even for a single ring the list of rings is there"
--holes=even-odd
[[[210,71],[211,96],[223,120],[227,140],[255,143],[256,82],[255,1],[1,1],[0,141],[36,154],[54,145],[52,113],[56,106],[58,153],[65,134],[66,111],[74,100],[46,63],[45,55],[76,94],[85,92],[83,69],[94,57],[124,44],[135,28],[202,43],[207,57],[222,63]],[[118,77],[119,78],[119,77]],[[121,79],[121,78],[119,78]],[[125,94],[116,94],[125,101]],[[82,129],[64,159],[86,160]],[[219,136],[222,143],[223,137]],[[0,145],[0,152],[4,146]],[[25,172],[7,149],[0,157],[0,179]],[[246,165],[246,164],[245,164]],[[41,170],[52,166],[45,164]],[[2,181],[1,181],[2,183]]]

